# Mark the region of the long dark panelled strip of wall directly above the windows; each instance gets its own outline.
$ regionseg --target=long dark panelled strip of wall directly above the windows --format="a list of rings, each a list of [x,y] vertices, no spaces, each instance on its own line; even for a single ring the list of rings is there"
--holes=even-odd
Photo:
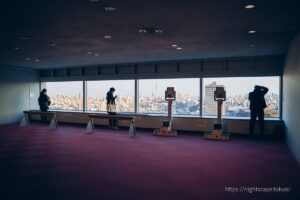
[[[184,60],[41,70],[41,81],[281,76],[283,56]],[[96,69],[97,68],[97,69]],[[82,69],[82,75],[80,70]]]

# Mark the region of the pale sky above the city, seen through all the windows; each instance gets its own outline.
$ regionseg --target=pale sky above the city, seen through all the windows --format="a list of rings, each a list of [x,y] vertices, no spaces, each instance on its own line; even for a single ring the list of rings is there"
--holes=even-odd
[[[270,92],[279,93],[279,77],[238,77],[238,78],[204,78],[203,86],[216,81],[218,85],[226,87],[227,95],[248,94],[253,91],[255,85],[268,87]],[[113,80],[113,81],[88,81],[89,95],[106,95],[110,87],[116,89],[116,95],[134,95],[134,80]],[[48,90],[48,95],[74,95],[81,93],[82,81],[71,82],[48,82],[44,86]],[[139,81],[140,96],[164,95],[167,87],[175,87],[177,93],[184,93],[197,96],[200,93],[199,78],[185,79],[144,79]]]

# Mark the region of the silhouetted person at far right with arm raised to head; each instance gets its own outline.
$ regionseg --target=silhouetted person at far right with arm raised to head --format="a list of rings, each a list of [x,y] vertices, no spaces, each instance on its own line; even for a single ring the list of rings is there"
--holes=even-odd
[[[260,134],[264,134],[264,109],[267,107],[265,101],[265,94],[269,91],[268,88],[263,86],[256,85],[254,87],[254,91],[249,93],[249,101],[250,101],[250,127],[249,133],[253,135],[256,118],[258,117]]]

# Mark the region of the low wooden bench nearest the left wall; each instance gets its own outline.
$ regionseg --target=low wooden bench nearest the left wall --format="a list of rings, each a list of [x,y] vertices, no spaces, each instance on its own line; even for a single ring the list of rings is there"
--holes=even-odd
[[[42,112],[42,111],[38,111],[38,110],[29,110],[29,111],[23,111],[23,113],[24,113],[24,116],[20,122],[20,126],[30,126],[29,116],[30,115],[40,115],[40,116],[50,116],[51,117],[49,129],[58,128],[58,123],[57,123],[55,112]]]

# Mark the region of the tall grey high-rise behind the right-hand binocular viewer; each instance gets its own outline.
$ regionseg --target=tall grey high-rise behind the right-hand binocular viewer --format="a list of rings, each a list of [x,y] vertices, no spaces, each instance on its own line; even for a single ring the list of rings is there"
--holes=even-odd
[[[224,85],[217,85],[216,82],[212,82],[205,86],[205,99],[204,99],[204,115],[217,115],[217,102],[214,100],[214,92],[216,87],[224,87]],[[222,114],[226,115],[226,103],[223,102]]]

